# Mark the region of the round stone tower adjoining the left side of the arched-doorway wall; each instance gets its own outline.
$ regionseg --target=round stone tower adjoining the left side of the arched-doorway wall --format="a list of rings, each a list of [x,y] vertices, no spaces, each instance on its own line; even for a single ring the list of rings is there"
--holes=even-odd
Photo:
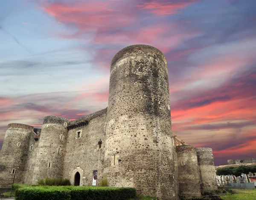
[[[33,183],[38,179],[62,177],[69,120],[46,116],[38,144]]]

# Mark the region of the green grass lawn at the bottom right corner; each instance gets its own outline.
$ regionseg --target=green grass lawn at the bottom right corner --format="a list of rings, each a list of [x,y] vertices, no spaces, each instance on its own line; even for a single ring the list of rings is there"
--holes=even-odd
[[[237,194],[227,192],[225,196],[221,195],[223,200],[256,200],[256,189],[232,189]]]

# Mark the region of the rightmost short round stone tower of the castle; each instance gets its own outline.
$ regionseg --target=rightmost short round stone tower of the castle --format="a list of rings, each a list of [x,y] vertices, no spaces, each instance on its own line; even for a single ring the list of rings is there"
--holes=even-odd
[[[196,148],[201,179],[201,192],[217,189],[216,172],[211,148]]]

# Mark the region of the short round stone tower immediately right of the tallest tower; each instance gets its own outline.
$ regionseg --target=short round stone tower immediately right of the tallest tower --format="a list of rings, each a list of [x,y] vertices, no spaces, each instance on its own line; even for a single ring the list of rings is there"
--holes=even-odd
[[[176,152],[180,198],[201,197],[200,175],[195,146],[176,146]]]

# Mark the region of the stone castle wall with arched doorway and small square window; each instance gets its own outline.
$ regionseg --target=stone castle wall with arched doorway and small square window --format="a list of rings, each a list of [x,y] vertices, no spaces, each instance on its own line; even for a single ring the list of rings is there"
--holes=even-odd
[[[88,121],[87,125],[68,132],[63,177],[70,179],[72,184],[74,184],[76,172],[79,172],[80,186],[91,186],[93,170],[98,170],[97,185],[99,185],[99,180],[103,175],[106,118],[107,109],[104,109],[70,122],[70,125],[73,125]],[[77,137],[77,132],[80,132],[80,138]],[[98,145],[100,139],[101,148]]]

